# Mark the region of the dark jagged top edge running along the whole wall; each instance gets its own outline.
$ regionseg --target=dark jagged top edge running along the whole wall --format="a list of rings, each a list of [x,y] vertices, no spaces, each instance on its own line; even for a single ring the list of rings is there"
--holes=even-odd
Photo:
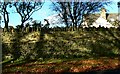
[[[74,30],[73,30],[74,29]],[[14,28],[13,26],[9,26],[8,28],[8,32],[11,32],[11,33],[14,33],[14,32],[33,32],[33,31],[44,31],[44,32],[49,32],[49,31],[82,31],[82,30],[86,30],[86,31],[95,31],[95,30],[119,30],[120,31],[120,27],[111,27],[111,28],[104,28],[104,27],[78,27],[78,28],[73,28],[73,27],[53,27],[53,28],[49,28],[49,27],[41,27],[41,26],[33,26],[33,27],[30,27],[30,26],[27,26],[27,27],[24,27],[24,28],[20,28],[20,27],[17,27],[17,28]],[[2,28],[2,31],[3,32],[7,32],[5,28]]]

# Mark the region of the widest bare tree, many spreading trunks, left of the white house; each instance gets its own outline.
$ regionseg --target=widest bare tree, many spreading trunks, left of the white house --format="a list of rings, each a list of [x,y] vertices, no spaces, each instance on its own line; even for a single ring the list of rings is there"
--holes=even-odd
[[[51,0],[52,1],[52,0]],[[52,2],[52,9],[60,13],[60,17],[65,22],[65,25],[74,27],[80,26],[83,22],[84,15],[89,15],[95,11],[98,11],[104,5],[108,5],[111,2]]]

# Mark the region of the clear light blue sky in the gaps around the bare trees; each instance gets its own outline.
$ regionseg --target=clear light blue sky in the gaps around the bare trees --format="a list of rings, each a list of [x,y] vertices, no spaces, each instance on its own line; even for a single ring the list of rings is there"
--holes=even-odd
[[[110,5],[110,6],[106,6],[105,8],[107,9],[108,13],[118,13],[118,7],[117,7],[117,1],[118,0],[114,0],[114,2]],[[43,7],[39,10],[36,11],[35,13],[33,13],[32,17],[34,20],[38,20],[38,21],[42,21],[51,15],[56,14],[50,7],[51,2],[50,1],[46,1],[43,5]],[[13,9],[9,9],[10,12],[13,12]],[[19,16],[18,13],[11,13],[9,14],[9,26],[13,26],[16,27],[17,25],[21,24],[21,18]],[[3,21],[3,19],[2,19]],[[1,27],[4,27],[4,22],[1,22]]]

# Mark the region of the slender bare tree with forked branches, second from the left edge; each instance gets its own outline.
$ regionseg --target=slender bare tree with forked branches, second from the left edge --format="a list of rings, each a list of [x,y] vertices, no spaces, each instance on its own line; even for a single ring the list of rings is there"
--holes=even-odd
[[[13,6],[21,17],[21,28],[31,19],[31,15],[42,8],[43,2],[15,2]]]

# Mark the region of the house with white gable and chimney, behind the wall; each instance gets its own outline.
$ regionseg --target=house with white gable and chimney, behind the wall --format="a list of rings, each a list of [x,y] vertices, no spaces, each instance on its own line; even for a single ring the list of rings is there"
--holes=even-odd
[[[85,15],[82,27],[118,27],[119,16],[117,13],[106,13],[106,9],[102,8],[100,14]]]

